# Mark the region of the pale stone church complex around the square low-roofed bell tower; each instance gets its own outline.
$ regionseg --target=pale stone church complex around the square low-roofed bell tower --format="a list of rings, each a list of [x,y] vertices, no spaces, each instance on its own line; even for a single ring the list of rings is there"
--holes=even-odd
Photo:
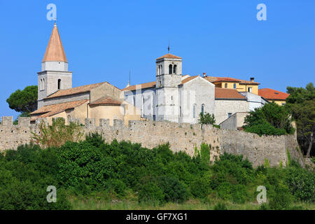
[[[174,123],[197,123],[200,113],[213,113],[220,124],[235,113],[263,106],[253,78],[182,74],[182,58],[168,53],[156,59],[155,81],[127,85],[125,101],[141,110],[141,118]]]

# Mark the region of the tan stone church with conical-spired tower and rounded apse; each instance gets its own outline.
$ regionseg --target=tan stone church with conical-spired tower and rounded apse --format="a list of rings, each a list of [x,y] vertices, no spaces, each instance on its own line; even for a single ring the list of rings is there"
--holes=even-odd
[[[137,108],[125,102],[122,91],[108,82],[72,87],[72,72],[62,46],[57,25],[43,57],[41,71],[38,72],[38,109],[31,113],[31,122],[36,118],[62,117],[66,122],[71,118],[106,118],[113,124],[114,119],[140,120]],[[99,124],[97,124],[99,125]]]

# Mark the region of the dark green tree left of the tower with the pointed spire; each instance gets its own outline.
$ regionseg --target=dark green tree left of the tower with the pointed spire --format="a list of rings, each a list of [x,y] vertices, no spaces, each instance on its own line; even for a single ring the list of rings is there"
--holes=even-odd
[[[10,109],[31,113],[37,109],[37,85],[29,85],[24,90],[16,90],[6,99]]]

